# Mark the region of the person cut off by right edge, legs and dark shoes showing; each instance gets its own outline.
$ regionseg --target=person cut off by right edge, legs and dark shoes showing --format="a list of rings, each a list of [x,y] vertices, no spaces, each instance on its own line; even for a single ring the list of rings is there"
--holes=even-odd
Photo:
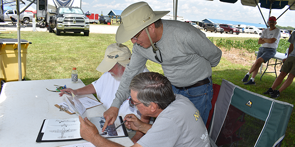
[[[283,59],[284,64],[280,70],[281,73],[274,80],[272,86],[265,93],[263,93],[265,95],[270,95],[270,98],[278,98],[280,96],[280,93],[291,85],[295,77],[295,49],[294,49],[295,33],[294,32],[292,33],[288,41],[291,44],[288,49],[287,58]],[[284,78],[287,76],[288,73],[289,75],[286,81],[283,83],[283,85],[278,90],[274,90],[283,82]]]

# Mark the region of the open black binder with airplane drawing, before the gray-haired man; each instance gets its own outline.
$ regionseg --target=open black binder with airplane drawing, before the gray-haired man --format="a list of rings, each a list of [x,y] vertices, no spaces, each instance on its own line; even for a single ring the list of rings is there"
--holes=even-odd
[[[66,123],[65,123],[66,122]],[[105,119],[103,117],[91,117],[90,122],[95,124],[99,134],[105,138],[128,137],[124,124],[115,130],[116,126],[123,122],[121,116],[118,116],[115,123],[108,126],[102,132]],[[67,125],[67,126],[66,126]],[[82,140],[80,136],[79,118],[72,119],[45,119],[41,125],[36,142],[64,142]]]

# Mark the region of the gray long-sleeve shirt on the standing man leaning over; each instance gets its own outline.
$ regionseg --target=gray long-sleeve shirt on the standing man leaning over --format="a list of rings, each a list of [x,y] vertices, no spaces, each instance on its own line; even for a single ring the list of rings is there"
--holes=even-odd
[[[177,87],[190,86],[211,76],[211,67],[218,65],[222,51],[201,30],[179,21],[162,20],[162,23],[163,34],[156,45],[163,62],[155,59],[152,47],[146,49],[134,44],[130,63],[111,106],[119,108],[129,97],[131,79],[144,70],[147,60],[161,64],[165,76]],[[161,60],[159,51],[156,53]]]

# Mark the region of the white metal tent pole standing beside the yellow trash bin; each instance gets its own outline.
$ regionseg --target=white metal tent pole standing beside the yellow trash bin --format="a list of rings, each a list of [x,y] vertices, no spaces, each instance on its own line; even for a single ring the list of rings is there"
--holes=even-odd
[[[22,81],[20,0],[16,0],[16,11],[17,11],[17,50],[18,50],[18,65],[19,65],[19,81]]]

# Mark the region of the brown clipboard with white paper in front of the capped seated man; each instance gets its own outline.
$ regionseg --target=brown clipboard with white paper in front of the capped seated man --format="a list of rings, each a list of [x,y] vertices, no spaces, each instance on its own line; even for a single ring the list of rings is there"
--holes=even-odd
[[[99,102],[99,101],[89,98],[89,97],[83,97],[82,99],[79,98],[79,100],[82,102],[82,104],[85,106],[86,109],[103,104],[102,102]],[[69,107],[67,106],[67,104],[65,102],[55,104],[54,106],[58,107],[59,111],[64,111],[70,115],[75,114],[75,112],[73,112],[69,109]]]

